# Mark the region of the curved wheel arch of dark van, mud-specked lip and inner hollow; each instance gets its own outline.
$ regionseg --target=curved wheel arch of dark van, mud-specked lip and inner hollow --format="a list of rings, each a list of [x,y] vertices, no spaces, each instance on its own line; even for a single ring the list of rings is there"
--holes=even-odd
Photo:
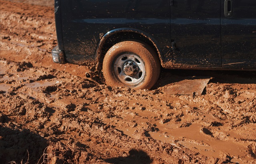
[[[138,30],[134,28],[117,28],[110,32],[107,32],[104,36],[102,36],[102,38],[100,39],[100,42],[97,45],[96,70],[99,73],[102,70],[102,62],[108,49],[110,49],[112,46],[114,46],[118,42],[122,42],[125,40],[140,40],[142,42],[145,42],[156,51],[160,59],[160,62],[162,64],[162,61],[163,61],[162,51],[158,46],[156,40],[152,36],[150,36],[146,32],[143,32],[142,30]]]

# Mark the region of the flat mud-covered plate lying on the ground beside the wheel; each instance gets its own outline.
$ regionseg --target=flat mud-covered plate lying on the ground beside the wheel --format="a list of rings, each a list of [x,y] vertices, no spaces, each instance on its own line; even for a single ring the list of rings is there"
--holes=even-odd
[[[177,95],[201,95],[209,80],[209,77],[193,77],[181,80],[175,82],[170,88],[166,89],[166,93]]]

